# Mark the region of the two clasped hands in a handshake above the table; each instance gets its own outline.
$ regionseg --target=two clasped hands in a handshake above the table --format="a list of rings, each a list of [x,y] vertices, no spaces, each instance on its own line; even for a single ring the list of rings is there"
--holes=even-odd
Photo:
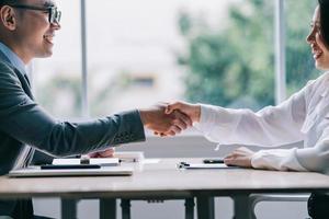
[[[184,102],[161,103],[139,110],[144,126],[159,136],[174,136],[200,122],[201,106]]]

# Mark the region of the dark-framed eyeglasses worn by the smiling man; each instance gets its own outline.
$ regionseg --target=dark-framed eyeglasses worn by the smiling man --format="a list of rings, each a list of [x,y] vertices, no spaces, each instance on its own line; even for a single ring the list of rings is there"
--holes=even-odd
[[[25,9],[25,10],[34,10],[34,11],[43,11],[48,13],[48,21],[50,24],[60,22],[61,11],[57,10],[57,7],[34,7],[34,5],[26,5],[26,4],[8,4],[9,7],[16,8],[16,9]]]

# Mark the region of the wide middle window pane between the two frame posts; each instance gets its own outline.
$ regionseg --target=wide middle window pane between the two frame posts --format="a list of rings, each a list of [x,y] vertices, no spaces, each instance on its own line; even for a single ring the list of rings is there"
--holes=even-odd
[[[91,114],[168,100],[273,103],[273,3],[258,2],[88,1]]]

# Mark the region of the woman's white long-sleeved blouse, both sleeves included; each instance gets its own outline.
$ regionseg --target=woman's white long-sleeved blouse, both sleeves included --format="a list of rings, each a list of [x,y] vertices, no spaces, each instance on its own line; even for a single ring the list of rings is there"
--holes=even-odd
[[[329,72],[280,105],[257,113],[202,105],[200,123],[194,126],[219,145],[279,147],[304,141],[303,149],[260,150],[251,164],[256,169],[329,173]]]

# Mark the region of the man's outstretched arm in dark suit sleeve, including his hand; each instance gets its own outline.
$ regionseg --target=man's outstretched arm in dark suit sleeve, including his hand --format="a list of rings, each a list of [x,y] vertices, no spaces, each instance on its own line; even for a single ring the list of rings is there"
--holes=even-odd
[[[175,116],[164,117],[163,107],[140,112],[143,118],[136,110],[83,123],[59,122],[26,95],[11,68],[0,65],[0,130],[54,155],[88,153],[145,140],[144,123],[164,132],[171,131],[173,125],[179,126],[171,123]]]

